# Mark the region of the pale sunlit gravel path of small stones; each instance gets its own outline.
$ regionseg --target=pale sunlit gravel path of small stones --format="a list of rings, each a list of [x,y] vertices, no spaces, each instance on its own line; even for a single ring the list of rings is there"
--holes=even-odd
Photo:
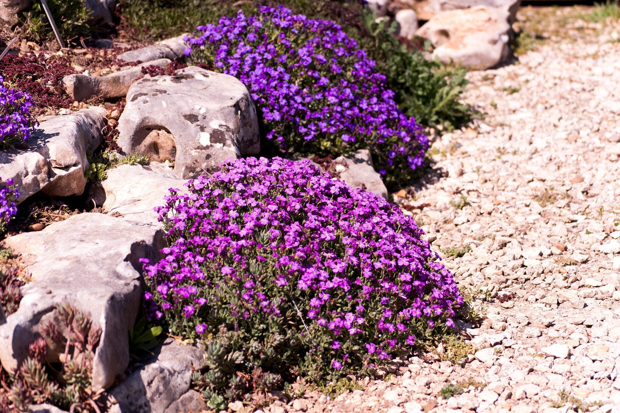
[[[397,198],[452,255],[463,289],[484,298],[482,325],[466,329],[475,354],[462,365],[414,357],[388,381],[265,412],[620,412],[614,38],[575,37],[471,72],[466,100],[484,121],[438,138],[435,175]],[[438,396],[450,383],[463,393]]]

